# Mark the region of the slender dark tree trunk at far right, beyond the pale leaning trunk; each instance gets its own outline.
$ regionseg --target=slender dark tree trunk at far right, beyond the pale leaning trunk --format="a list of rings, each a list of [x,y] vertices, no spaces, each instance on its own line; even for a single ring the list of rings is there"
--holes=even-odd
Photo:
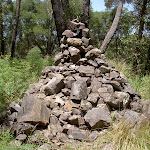
[[[143,36],[143,30],[144,30],[144,16],[146,14],[146,5],[147,5],[147,0],[143,1],[143,5],[142,5],[142,9],[141,9],[141,13],[140,13],[140,25],[139,25],[139,32],[138,32],[138,45],[135,48],[135,54],[134,54],[134,60],[133,60],[133,71],[137,72],[138,70],[138,59],[139,59],[139,55],[140,55],[140,43],[141,43],[141,39]]]

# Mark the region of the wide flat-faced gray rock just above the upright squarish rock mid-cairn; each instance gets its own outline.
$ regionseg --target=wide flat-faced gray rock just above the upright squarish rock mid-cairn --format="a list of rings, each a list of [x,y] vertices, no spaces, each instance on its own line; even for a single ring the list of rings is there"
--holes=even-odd
[[[92,76],[94,74],[94,67],[81,65],[77,71],[81,76]]]

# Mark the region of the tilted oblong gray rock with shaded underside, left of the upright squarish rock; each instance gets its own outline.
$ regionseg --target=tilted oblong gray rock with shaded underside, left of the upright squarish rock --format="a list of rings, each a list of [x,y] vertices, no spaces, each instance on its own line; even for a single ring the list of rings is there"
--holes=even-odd
[[[64,82],[63,82],[63,76],[57,76],[53,77],[45,86],[45,94],[57,94],[61,91],[61,89],[64,87]]]

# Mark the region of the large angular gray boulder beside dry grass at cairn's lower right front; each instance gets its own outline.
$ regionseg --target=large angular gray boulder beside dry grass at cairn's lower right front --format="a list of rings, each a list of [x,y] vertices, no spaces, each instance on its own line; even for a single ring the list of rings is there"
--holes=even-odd
[[[108,127],[111,122],[111,116],[105,108],[93,108],[84,116],[86,123],[92,129],[102,129]]]

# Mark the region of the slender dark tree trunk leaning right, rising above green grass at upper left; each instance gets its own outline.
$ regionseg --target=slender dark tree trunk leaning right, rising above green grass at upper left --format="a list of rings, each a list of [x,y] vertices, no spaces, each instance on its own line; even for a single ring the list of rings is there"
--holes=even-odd
[[[16,7],[16,19],[15,19],[15,24],[14,24],[11,44],[10,44],[11,58],[14,57],[14,53],[15,53],[15,42],[16,42],[17,28],[18,28],[18,22],[20,16],[20,5],[21,5],[21,0],[18,0],[17,7]]]

